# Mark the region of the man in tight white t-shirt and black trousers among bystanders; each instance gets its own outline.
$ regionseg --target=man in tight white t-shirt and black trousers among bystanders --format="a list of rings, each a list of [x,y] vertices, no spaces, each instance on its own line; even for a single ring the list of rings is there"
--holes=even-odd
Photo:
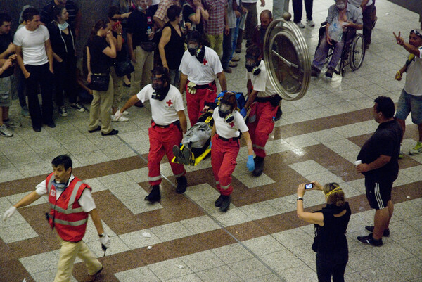
[[[42,124],[56,127],[53,122],[53,51],[49,30],[41,25],[39,11],[23,11],[25,27],[15,33],[18,65],[25,76],[32,129],[41,132]],[[42,109],[38,101],[38,84],[41,86]]]

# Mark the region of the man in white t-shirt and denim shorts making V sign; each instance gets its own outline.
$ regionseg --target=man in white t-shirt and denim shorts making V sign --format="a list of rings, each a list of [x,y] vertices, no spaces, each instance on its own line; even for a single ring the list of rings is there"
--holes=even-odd
[[[410,155],[418,155],[422,153],[422,30],[411,30],[409,43],[404,42],[400,32],[399,35],[394,35],[397,44],[410,53],[403,68],[395,75],[395,79],[402,80],[403,73],[407,73],[395,116],[403,127],[403,134],[406,129],[405,120],[409,113],[411,113],[411,121],[418,124],[419,141],[413,149],[409,150]],[[403,156],[402,150],[399,156]]]

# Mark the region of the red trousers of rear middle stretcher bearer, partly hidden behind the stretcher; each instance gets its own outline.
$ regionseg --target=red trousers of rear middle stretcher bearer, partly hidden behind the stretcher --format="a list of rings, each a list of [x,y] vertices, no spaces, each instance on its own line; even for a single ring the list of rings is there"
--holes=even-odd
[[[186,84],[186,103],[188,105],[188,115],[191,121],[191,126],[198,122],[201,112],[205,106],[205,102],[213,103],[217,98],[217,86],[210,84],[207,89],[196,89],[195,94],[188,91],[188,84]]]

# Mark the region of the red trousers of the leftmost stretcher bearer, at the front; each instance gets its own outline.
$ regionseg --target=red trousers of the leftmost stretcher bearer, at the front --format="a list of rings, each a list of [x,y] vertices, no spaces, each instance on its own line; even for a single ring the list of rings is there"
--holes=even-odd
[[[183,165],[172,162],[174,158],[173,146],[180,145],[183,134],[177,125],[170,124],[167,128],[152,126],[148,129],[150,139],[150,151],[148,153],[148,181],[150,185],[161,183],[160,162],[164,154],[170,162],[174,177],[186,174]]]

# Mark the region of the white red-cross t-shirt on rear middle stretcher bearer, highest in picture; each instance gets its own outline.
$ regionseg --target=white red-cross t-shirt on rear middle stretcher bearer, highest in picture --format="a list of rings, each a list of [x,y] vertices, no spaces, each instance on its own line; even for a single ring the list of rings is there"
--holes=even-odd
[[[205,55],[202,63],[185,51],[181,58],[179,70],[188,76],[188,80],[198,85],[210,84],[218,73],[223,71],[219,56],[214,50],[205,46]]]

